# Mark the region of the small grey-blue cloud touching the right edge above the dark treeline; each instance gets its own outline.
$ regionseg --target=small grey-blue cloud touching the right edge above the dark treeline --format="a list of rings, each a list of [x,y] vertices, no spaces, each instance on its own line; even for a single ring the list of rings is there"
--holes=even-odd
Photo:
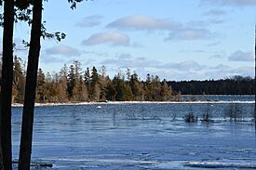
[[[232,61],[253,61],[253,53],[248,51],[244,52],[241,50],[237,50],[236,52],[232,53],[229,57],[228,60]]]

